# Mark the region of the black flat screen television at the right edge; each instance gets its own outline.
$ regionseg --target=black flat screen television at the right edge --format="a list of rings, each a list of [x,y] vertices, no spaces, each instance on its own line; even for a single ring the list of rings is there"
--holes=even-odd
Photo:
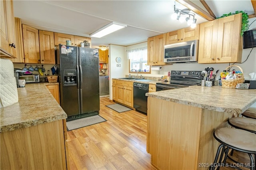
[[[256,47],[256,29],[248,30],[243,35],[244,49]]]

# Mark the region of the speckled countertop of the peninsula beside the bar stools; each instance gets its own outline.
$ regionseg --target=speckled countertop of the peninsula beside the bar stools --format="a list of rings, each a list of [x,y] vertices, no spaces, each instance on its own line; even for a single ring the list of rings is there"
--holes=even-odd
[[[146,93],[146,96],[213,111],[239,114],[256,102],[256,89],[190,86]]]

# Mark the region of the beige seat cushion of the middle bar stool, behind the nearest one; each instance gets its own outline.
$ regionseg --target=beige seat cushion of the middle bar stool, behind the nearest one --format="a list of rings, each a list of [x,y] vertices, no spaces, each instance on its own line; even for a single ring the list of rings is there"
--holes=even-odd
[[[232,117],[228,120],[232,125],[256,132],[256,119],[246,117]]]

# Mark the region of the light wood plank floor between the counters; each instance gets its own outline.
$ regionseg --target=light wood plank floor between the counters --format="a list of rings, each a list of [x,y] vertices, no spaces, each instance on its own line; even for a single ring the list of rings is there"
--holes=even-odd
[[[109,104],[114,103],[100,98],[100,116],[106,122],[68,131],[70,169],[154,170],[146,152],[146,115],[134,110],[117,113],[106,107]],[[234,156],[249,162],[248,155],[234,152]]]

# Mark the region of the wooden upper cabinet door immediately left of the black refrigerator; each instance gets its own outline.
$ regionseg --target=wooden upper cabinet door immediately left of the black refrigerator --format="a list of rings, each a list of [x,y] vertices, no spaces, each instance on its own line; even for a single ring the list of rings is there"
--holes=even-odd
[[[55,64],[54,33],[39,30],[40,58],[43,64]]]

